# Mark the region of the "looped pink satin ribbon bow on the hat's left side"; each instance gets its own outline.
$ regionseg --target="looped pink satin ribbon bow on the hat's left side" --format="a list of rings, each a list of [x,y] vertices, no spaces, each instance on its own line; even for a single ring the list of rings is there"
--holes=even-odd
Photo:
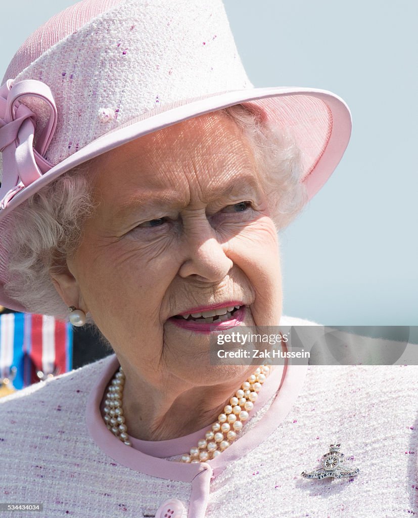
[[[36,115],[19,102],[22,97],[39,97],[50,108],[48,122],[34,146]],[[0,209],[19,191],[49,171],[53,164],[43,158],[54,136],[57,123],[55,100],[47,84],[34,79],[13,83],[7,80],[0,88],[0,151],[3,153],[3,179]]]

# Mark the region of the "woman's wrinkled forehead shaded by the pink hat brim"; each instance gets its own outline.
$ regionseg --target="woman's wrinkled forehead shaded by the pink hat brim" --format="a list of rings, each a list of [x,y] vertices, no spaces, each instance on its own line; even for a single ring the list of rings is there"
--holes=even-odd
[[[252,147],[223,112],[140,137],[98,157],[93,170],[96,192],[113,205],[153,193],[161,200],[175,192],[186,201],[196,190],[205,198],[231,181],[257,182]]]

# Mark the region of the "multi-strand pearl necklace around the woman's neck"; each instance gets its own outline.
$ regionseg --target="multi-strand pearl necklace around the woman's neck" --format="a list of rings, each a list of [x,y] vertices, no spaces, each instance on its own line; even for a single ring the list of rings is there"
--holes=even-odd
[[[269,373],[270,369],[262,365],[244,381],[241,389],[238,389],[235,396],[229,400],[229,405],[218,415],[218,420],[212,428],[206,431],[205,438],[200,439],[197,447],[191,448],[189,453],[182,455],[181,462],[193,464],[209,461],[231,445],[242,430],[243,422],[249,418],[248,412],[253,409],[258,392]],[[122,410],[124,384],[125,373],[120,367],[108,387],[104,420],[108,429],[118,439],[131,446]]]

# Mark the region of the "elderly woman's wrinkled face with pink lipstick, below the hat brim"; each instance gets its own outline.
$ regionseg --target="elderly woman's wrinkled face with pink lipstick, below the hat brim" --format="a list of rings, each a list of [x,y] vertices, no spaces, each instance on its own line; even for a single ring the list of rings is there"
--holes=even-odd
[[[210,326],[278,324],[276,228],[233,120],[176,124],[109,151],[94,170],[98,207],[64,296],[120,360],[207,381]],[[226,314],[211,323],[205,311]]]

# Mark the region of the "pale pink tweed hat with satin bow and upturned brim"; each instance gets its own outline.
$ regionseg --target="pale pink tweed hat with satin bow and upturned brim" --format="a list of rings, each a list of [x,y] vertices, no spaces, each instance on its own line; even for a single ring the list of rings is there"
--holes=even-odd
[[[302,150],[309,197],[351,132],[324,90],[253,88],[221,0],[83,0],[42,25],[0,88],[0,236],[13,209],[69,169],[147,133],[236,104],[253,106]],[[2,176],[1,176],[2,175]],[[0,304],[7,243],[0,237]]]

